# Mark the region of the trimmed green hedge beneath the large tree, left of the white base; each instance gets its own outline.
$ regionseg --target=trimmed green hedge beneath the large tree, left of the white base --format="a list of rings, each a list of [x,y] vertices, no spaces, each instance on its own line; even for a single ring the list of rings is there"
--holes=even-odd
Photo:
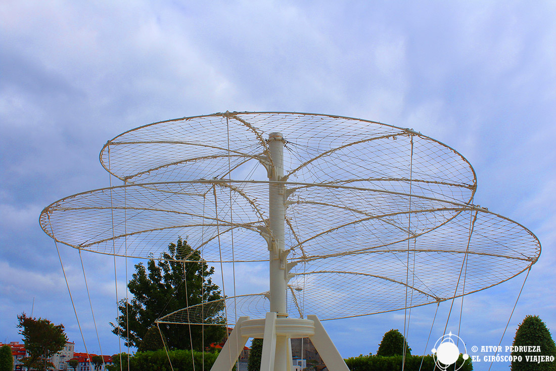
[[[212,364],[216,361],[219,353],[205,353],[204,369],[210,370]],[[108,371],[127,370],[127,354],[122,353],[122,364],[120,368],[120,354],[112,356],[113,365],[107,367]],[[164,349],[151,352],[137,352],[130,357],[130,371],[172,371],[168,357],[172,362],[174,370],[193,371],[193,363],[191,359],[191,350],[169,350],[168,355]],[[193,359],[195,359],[195,369],[203,369],[203,353],[193,350]]]

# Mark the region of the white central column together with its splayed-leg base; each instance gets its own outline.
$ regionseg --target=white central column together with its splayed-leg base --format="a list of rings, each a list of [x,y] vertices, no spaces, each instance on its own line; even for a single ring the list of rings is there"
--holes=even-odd
[[[270,311],[264,320],[241,317],[226,341],[211,371],[231,371],[250,337],[262,336],[261,371],[291,371],[290,338],[309,336],[327,367],[335,371],[349,371],[340,353],[326,334],[316,316],[308,319],[287,318],[286,287],[288,270],[285,250],[286,187],[277,184],[284,180],[284,138],[281,133],[269,134],[269,162],[265,161],[269,176],[269,228],[261,230],[269,248]],[[269,233],[270,232],[270,233]],[[269,236],[270,234],[270,236]],[[268,238],[270,237],[270,238]],[[310,318],[311,317],[311,318]],[[235,336],[234,336],[235,335]],[[241,338],[241,340],[240,340]]]

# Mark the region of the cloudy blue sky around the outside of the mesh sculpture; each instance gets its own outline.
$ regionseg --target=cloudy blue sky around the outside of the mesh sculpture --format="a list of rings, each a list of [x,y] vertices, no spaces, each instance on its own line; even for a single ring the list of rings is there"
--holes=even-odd
[[[554,19],[554,1],[3,1],[0,341],[21,341],[16,317],[24,311],[63,323],[77,351],[100,353],[85,271],[102,353],[118,352],[108,325],[117,314],[113,260],[83,252],[82,269],[78,252],[59,246],[84,343],[39,213],[115,183],[98,153],[123,131],[226,110],[380,121],[458,150],[477,174],[475,204],[523,224],[542,244],[501,345],[512,344],[528,314],[554,337]],[[125,262],[116,265],[125,271]],[[118,297],[125,282],[118,274]],[[465,297],[460,337],[468,348],[499,344],[523,282],[519,275]],[[431,330],[435,309],[411,311],[414,354],[430,352],[429,332],[433,343],[444,334],[449,304]],[[458,310],[450,328],[459,318]],[[386,331],[403,329],[404,311],[325,327],[343,357],[376,353]]]

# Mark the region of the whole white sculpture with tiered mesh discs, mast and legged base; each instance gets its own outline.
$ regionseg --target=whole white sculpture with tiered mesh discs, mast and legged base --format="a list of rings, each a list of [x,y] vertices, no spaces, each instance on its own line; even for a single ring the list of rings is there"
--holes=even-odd
[[[127,131],[100,159],[125,184],[46,207],[41,225],[56,241],[156,258],[187,236],[206,262],[269,263],[269,292],[158,319],[203,324],[220,304],[241,314],[214,370],[231,370],[253,337],[264,338],[261,370],[289,370],[295,337],[310,337],[329,369],[347,370],[320,320],[470,294],[540,254],[527,228],[473,205],[475,173],[463,156],[374,121],[196,116]]]

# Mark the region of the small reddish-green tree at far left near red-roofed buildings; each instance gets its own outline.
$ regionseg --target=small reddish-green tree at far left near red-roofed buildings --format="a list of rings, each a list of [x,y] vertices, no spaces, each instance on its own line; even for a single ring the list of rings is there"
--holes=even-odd
[[[48,360],[54,353],[63,349],[67,343],[64,325],[54,325],[43,318],[27,317],[25,313],[17,316],[19,334],[23,335],[23,344],[29,357],[22,359],[22,363],[29,369],[46,370],[54,365]]]

